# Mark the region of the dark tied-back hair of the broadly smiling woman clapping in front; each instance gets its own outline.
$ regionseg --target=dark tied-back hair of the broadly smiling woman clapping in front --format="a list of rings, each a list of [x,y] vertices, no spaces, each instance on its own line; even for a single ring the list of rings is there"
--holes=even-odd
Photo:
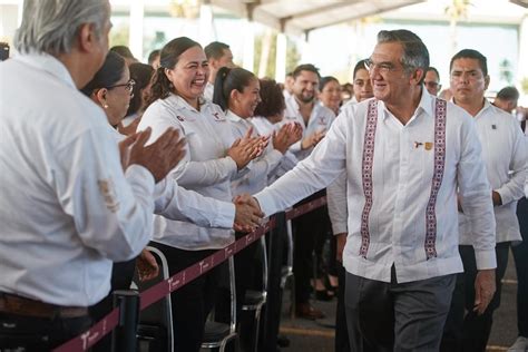
[[[165,75],[165,69],[173,69],[178,63],[179,56],[190,48],[202,46],[187,37],[179,37],[167,42],[159,52],[159,68],[154,72],[150,97],[147,106],[157,99],[165,99],[172,92],[176,92],[173,84]]]

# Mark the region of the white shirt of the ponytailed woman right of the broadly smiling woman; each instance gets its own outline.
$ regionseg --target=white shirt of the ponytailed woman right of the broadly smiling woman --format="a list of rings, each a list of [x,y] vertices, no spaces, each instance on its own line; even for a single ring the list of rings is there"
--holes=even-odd
[[[243,138],[252,127],[254,129],[253,136],[258,135],[250,119],[243,119],[231,110],[226,111],[226,117],[231,123],[233,136],[235,138]],[[264,187],[267,186],[267,176],[274,172],[282,158],[283,154],[273,148],[270,138],[270,143],[262,156],[253,160],[251,172],[246,173],[244,177],[239,177],[232,182],[231,189],[233,195],[236,196],[243,193],[255,194],[258,190],[264,189]]]

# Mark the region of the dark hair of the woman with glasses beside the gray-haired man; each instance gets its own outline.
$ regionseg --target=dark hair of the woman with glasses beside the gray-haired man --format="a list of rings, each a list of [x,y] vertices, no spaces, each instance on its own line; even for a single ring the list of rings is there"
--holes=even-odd
[[[126,67],[125,59],[119,53],[108,51],[101,68],[80,91],[89,97],[94,90],[116,85],[121,79]]]

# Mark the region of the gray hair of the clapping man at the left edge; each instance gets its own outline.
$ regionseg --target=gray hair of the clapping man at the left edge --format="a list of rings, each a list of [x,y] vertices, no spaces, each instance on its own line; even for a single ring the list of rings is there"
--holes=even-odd
[[[109,16],[108,0],[25,0],[14,47],[26,53],[67,53],[81,25],[94,23],[100,39]]]

